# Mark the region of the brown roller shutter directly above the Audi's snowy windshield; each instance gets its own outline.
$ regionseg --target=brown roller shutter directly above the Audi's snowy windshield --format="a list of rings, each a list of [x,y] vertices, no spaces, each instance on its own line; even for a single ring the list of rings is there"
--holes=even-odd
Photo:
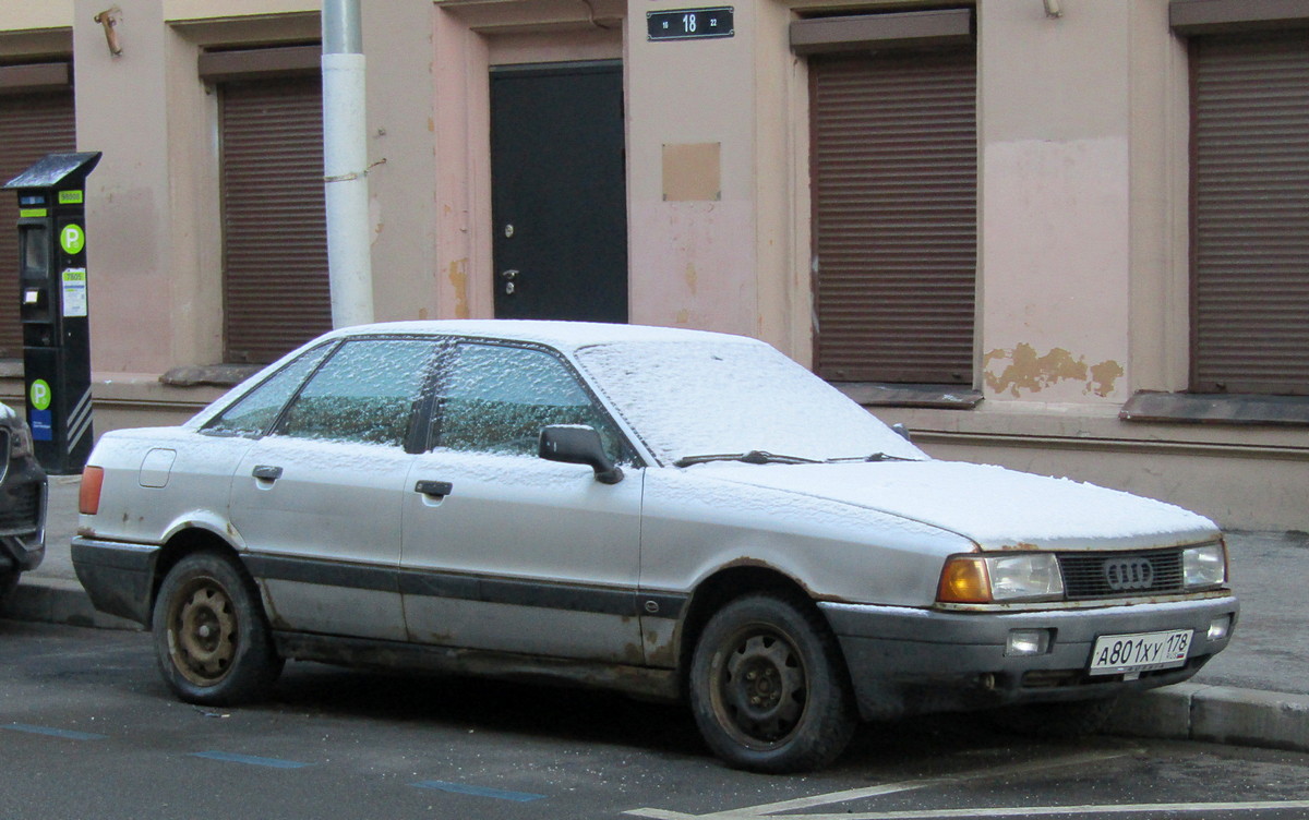
[[[977,59],[810,60],[818,373],[973,379]]]

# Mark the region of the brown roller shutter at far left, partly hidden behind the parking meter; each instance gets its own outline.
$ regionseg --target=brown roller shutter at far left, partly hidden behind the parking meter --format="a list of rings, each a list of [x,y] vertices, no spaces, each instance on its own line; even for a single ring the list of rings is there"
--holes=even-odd
[[[73,120],[72,90],[0,97],[0,184],[48,153],[77,150]],[[22,357],[17,221],[18,197],[0,191],[0,358]]]

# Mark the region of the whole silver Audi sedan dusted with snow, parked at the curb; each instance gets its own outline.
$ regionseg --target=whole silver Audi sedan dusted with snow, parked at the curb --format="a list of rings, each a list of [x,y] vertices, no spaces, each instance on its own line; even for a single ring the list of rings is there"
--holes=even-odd
[[[73,540],[190,702],[284,660],[685,698],[733,766],[860,719],[1097,727],[1237,617],[1186,510],[928,458],[771,347],[550,322],[322,336],[177,428],[107,433]]]

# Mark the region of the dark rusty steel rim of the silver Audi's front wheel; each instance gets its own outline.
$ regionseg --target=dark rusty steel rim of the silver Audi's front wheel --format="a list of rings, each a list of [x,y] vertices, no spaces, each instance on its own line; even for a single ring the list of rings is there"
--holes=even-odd
[[[795,643],[767,625],[740,629],[715,658],[712,705],[741,744],[771,749],[798,730],[809,702],[809,670]]]

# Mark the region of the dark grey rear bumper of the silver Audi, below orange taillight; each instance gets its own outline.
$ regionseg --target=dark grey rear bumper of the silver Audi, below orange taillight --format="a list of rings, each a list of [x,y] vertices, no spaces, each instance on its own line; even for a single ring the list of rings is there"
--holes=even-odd
[[[90,603],[101,612],[149,626],[160,548],[73,538],[72,558]]]

